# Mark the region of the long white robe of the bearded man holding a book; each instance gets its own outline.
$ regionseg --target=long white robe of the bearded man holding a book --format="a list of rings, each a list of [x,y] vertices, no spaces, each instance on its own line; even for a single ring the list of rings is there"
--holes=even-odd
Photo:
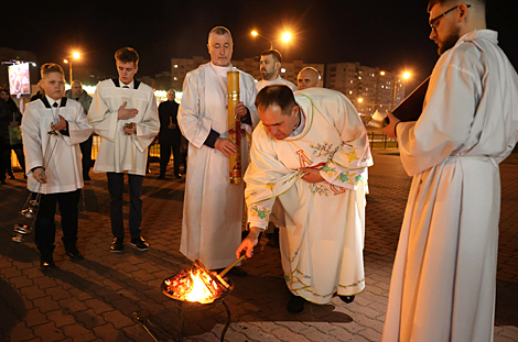
[[[417,122],[401,122],[413,176],[384,341],[493,341],[500,180],[516,143],[518,77],[497,33],[472,31],[438,60]]]

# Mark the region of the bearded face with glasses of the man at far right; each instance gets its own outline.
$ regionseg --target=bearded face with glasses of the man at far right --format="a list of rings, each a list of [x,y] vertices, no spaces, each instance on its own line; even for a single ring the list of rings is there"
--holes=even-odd
[[[442,55],[461,37],[461,27],[456,21],[457,9],[440,16],[442,13],[451,9],[451,4],[442,5],[441,3],[435,4],[430,11],[430,24],[435,27],[430,33],[430,38],[438,44],[438,53]],[[438,18],[440,16],[440,18]]]

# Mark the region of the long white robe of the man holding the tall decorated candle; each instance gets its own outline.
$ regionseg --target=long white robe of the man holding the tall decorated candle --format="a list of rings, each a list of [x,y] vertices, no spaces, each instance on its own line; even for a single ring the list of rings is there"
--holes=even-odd
[[[229,67],[204,64],[190,71],[183,84],[179,124],[188,140],[187,178],[183,207],[180,251],[190,260],[201,260],[211,269],[236,260],[241,242],[244,184],[229,184],[228,158],[204,145],[211,130],[228,137],[227,71]],[[259,122],[253,78],[239,73],[240,100]],[[251,126],[242,124],[248,133]],[[248,164],[248,143],[241,139],[241,167]]]

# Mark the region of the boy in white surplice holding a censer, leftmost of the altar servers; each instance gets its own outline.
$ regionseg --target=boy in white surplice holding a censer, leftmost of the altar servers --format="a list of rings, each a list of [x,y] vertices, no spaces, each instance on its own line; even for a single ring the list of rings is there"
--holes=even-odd
[[[35,244],[42,269],[55,267],[53,252],[60,205],[63,244],[72,261],[83,258],[77,250],[78,203],[83,188],[79,143],[91,134],[91,126],[79,102],[65,98],[65,76],[57,64],[41,68],[45,96],[26,106],[22,118],[28,188],[40,192],[35,222]],[[48,132],[51,132],[48,133]]]

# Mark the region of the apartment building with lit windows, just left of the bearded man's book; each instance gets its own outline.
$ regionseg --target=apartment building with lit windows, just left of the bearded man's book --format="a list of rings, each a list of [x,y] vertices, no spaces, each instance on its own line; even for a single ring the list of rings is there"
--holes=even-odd
[[[406,79],[357,62],[335,63],[327,65],[325,87],[343,92],[359,113],[368,115],[398,106],[404,99]]]

